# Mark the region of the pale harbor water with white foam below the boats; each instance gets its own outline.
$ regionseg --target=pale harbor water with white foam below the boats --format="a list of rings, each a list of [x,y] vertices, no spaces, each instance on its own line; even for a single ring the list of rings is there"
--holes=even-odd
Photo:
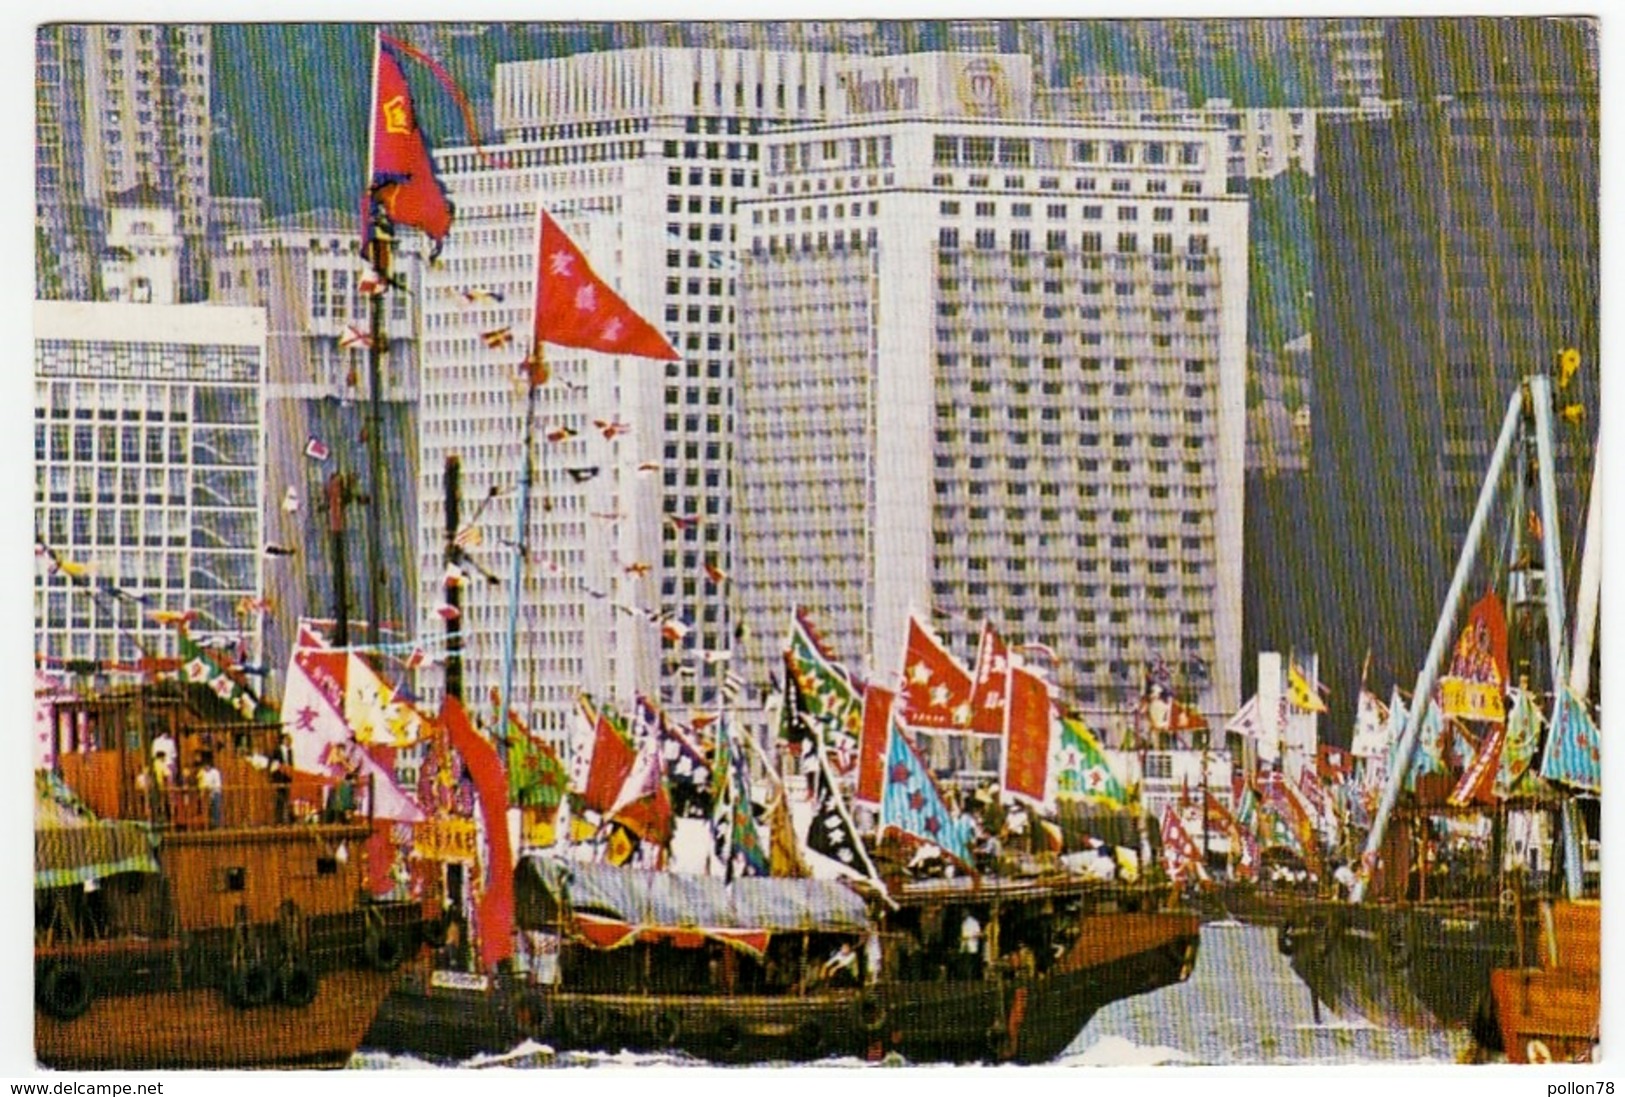
[[[1276,949],[1276,931],[1238,921],[1202,926],[1202,946],[1190,980],[1112,1003],[1056,1066],[1225,1066],[1336,1063],[1454,1063],[1469,1045],[1466,1032],[1384,1029],[1339,1017],[1321,1006]],[[462,1068],[700,1066],[681,1055],[554,1055],[526,1042],[504,1055],[478,1056]],[[434,1063],[362,1048],[356,1069],[429,1069]],[[861,1066],[827,1060],[822,1066]]]

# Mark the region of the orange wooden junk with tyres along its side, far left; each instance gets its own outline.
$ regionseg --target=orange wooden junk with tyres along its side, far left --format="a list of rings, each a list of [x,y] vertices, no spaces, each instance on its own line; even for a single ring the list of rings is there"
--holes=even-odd
[[[148,764],[211,751],[218,808]],[[55,705],[34,832],[34,1053],[60,1069],[343,1066],[419,949],[418,904],[362,897],[367,819],[320,821],[180,687]],[[270,736],[268,743],[260,743]],[[180,772],[187,772],[182,769]]]

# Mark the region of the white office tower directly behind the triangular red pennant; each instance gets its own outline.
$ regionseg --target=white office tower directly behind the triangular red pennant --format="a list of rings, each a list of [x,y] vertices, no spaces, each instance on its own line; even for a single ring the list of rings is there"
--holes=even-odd
[[[538,200],[684,358],[548,349],[515,707],[559,736],[577,689],[621,704],[637,691],[668,704],[715,697],[723,665],[700,652],[726,650],[733,632],[731,588],[705,569],[733,567],[734,203],[759,185],[762,130],[824,111],[829,73],[827,55],[731,49],[505,63],[500,145],[439,156],[457,223],[422,304],[419,619],[442,627],[442,465],[458,453],[465,520],[500,491],[473,553],[504,582],[471,575],[463,588],[465,681],[481,712],[507,619],[523,408],[514,375],[530,341]],[[481,289],[502,301],[465,301]],[[515,341],[488,348],[483,335],[505,327]],[[600,419],[630,432],[606,439]],[[548,440],[566,427],[574,437]],[[689,626],[681,639],[648,616],[663,611]]]

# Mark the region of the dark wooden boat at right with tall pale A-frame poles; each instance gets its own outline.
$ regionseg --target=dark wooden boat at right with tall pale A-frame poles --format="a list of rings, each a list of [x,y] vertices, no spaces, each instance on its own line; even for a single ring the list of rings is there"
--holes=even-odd
[[[1414,696],[1419,699],[1433,694],[1503,468],[1511,470],[1514,492],[1508,509],[1508,559],[1516,561],[1508,575],[1513,655],[1521,673],[1552,691],[1542,689],[1547,697],[1568,681],[1552,418],[1550,379],[1528,377],[1508,405],[1467,543],[1417,679]],[[1514,449],[1516,463],[1508,462]],[[1536,492],[1536,501],[1528,499]],[[1534,514],[1544,527],[1537,548],[1524,541],[1524,518]],[[1544,629],[1539,627],[1542,619]],[[1528,691],[1529,681],[1523,686]],[[1402,798],[1401,785],[1424,707],[1412,705],[1398,748],[1399,762],[1388,775],[1368,837],[1367,871],[1355,884],[1352,902],[1298,904],[1279,930],[1280,951],[1290,956],[1294,970],[1310,990],[1339,1012],[1407,1027],[1466,1025],[1480,1045],[1497,1050],[1505,1032],[1508,1055],[1514,1055],[1513,1045],[1519,1042],[1518,1053],[1528,1048],[1536,1034],[1531,1025],[1547,1024],[1539,1032],[1563,1051],[1550,1043],[1545,1048],[1552,1056],[1565,1055],[1571,1038],[1594,1037],[1597,1016],[1596,944],[1594,938],[1588,944],[1588,936],[1578,931],[1588,913],[1596,918],[1596,907],[1571,902],[1594,886],[1583,869],[1581,850],[1591,842],[1580,804],[1570,793],[1536,785],[1528,795],[1502,800],[1497,806],[1451,808],[1445,803],[1448,788],[1435,783],[1436,775],[1419,778],[1415,791]],[[1440,871],[1446,868],[1438,858],[1440,835],[1466,826],[1471,816],[1480,816],[1484,830],[1492,835],[1487,856],[1480,852],[1476,865]],[[1513,817],[1524,824],[1528,835],[1521,850],[1518,842],[1506,840],[1506,824]],[[1565,912],[1557,928],[1554,910]],[[1571,947],[1555,949],[1555,959],[1550,947],[1544,959],[1536,957],[1537,941],[1568,930],[1576,931]],[[1523,988],[1523,996],[1513,991],[1514,986]],[[1513,998],[1518,1001],[1510,1004]],[[1583,1008],[1576,1004],[1581,999]]]

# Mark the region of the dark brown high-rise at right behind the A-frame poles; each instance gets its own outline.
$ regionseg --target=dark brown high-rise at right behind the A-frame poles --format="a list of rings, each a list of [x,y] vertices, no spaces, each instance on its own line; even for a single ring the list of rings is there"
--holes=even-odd
[[[1581,356],[1562,401],[1583,411],[1557,423],[1565,553],[1576,543],[1601,408],[1589,29],[1398,24],[1384,52],[1410,76],[1391,91],[1420,98],[1321,127],[1310,535],[1337,606],[1316,635],[1334,725],[1367,648],[1384,678],[1419,670],[1506,401],[1563,348]]]

